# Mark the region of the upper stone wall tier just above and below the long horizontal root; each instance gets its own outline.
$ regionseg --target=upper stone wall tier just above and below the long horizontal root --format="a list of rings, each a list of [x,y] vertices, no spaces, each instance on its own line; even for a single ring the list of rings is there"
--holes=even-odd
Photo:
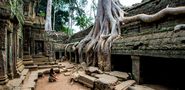
[[[155,14],[160,10],[168,7],[178,7],[185,5],[184,0],[146,0],[142,3],[133,6],[130,9],[125,10],[128,12],[125,16],[133,16],[137,14]],[[132,22],[126,25],[122,25],[122,35],[132,35],[132,34],[148,34],[161,31],[171,31],[173,27],[177,24],[184,23],[185,18],[183,15],[178,16],[165,16],[159,21],[152,23],[144,23],[141,21]]]

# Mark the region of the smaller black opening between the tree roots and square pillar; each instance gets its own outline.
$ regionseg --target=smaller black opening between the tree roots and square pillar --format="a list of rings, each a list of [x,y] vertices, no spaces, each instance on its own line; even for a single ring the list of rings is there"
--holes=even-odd
[[[112,70],[122,72],[132,72],[132,60],[126,55],[112,55]]]

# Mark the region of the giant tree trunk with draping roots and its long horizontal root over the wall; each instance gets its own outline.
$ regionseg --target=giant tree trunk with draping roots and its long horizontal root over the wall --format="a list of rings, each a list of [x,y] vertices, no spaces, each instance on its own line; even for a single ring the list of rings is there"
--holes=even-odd
[[[104,71],[111,70],[111,43],[120,37],[120,24],[134,21],[153,22],[166,15],[185,14],[185,7],[165,8],[153,15],[138,14],[124,17],[118,0],[99,0],[95,24],[90,33],[73,46],[78,51],[79,62],[98,65]],[[85,57],[85,59],[84,59]]]

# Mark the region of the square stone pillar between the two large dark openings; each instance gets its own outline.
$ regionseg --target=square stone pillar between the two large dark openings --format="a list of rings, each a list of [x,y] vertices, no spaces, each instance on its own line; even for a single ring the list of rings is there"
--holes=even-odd
[[[137,83],[140,82],[140,56],[131,56],[132,74]]]

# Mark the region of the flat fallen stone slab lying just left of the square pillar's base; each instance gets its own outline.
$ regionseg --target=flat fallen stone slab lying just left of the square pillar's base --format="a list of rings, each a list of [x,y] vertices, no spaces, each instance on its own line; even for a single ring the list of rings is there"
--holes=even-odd
[[[126,72],[120,72],[120,71],[112,71],[109,73],[109,75],[121,78],[123,80],[127,80],[129,77],[129,75]]]

